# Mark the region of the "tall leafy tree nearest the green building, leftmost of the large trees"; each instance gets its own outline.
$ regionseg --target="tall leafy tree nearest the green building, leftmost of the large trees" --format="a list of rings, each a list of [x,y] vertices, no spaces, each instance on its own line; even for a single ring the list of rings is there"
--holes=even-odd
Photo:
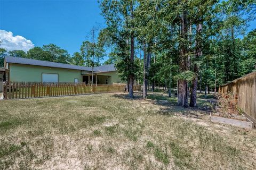
[[[137,2],[133,0],[102,0],[100,8],[106,20],[108,33],[112,43],[118,49],[121,58],[117,60],[116,67],[122,78],[129,85],[129,96],[133,97],[133,83],[136,73],[134,66],[134,10]]]

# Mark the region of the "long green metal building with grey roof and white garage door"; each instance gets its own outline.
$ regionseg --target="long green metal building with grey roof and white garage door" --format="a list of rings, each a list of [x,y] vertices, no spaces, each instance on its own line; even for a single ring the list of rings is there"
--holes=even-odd
[[[85,82],[92,83],[92,67],[31,60],[6,56],[6,81],[18,82]],[[93,69],[93,83],[120,83],[114,64]]]

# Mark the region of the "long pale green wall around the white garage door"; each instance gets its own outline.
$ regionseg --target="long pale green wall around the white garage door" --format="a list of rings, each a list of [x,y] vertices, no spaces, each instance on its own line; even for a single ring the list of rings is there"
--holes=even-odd
[[[78,79],[79,82],[83,81],[81,71],[79,70],[13,63],[9,63],[9,68],[10,81],[41,82],[42,73],[59,74],[59,82],[74,82],[74,79]]]

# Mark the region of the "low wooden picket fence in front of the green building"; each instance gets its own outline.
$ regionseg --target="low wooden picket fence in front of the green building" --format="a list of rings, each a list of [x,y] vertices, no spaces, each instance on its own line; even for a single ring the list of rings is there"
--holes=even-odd
[[[134,86],[139,90],[140,85]],[[124,86],[85,83],[4,82],[4,99],[69,96],[123,91]]]

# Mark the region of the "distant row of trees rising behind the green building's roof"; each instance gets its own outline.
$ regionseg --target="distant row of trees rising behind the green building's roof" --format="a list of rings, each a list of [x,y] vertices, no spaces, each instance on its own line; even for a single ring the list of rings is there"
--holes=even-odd
[[[98,43],[84,41],[81,45],[81,52],[75,52],[72,56],[66,49],[62,49],[55,44],[43,45],[43,47],[34,47],[25,52],[23,50],[7,51],[1,48],[0,42],[0,66],[4,65],[5,56],[14,56],[57,62],[64,64],[73,64],[81,66],[99,66],[100,60],[104,56],[104,49]],[[95,58],[94,58],[95,57]]]

